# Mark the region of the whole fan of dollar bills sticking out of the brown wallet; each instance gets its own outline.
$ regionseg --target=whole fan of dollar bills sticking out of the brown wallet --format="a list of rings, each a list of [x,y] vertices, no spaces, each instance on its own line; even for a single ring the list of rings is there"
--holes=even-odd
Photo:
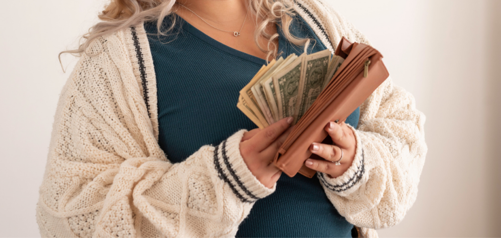
[[[240,90],[236,106],[259,128],[290,116],[296,124],[343,61],[328,49],[274,59]]]

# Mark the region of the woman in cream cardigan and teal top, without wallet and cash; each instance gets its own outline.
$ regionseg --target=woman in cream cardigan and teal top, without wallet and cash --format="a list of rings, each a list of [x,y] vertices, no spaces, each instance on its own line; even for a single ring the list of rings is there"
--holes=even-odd
[[[305,162],[313,179],[270,164],[290,118],[260,130],[235,106],[269,60],[369,44],[327,4],[112,0],[100,18],[69,51],[81,57],[55,116],[43,237],[376,237],[415,201],[424,115],[390,78],[326,125],[335,145],[310,147],[326,159]]]

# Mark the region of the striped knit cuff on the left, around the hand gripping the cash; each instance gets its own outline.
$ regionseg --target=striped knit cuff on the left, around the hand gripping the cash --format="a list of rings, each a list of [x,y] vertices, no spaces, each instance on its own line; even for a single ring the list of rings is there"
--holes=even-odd
[[[254,203],[273,192],[250,172],[240,155],[240,141],[246,130],[240,130],[223,141],[214,149],[214,166],[222,179],[240,201]]]

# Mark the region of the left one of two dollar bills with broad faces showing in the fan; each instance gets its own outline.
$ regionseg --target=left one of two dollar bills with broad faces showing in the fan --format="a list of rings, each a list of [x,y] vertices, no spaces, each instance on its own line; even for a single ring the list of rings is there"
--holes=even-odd
[[[304,58],[304,56],[298,57],[272,76],[277,96],[279,119],[294,116]]]

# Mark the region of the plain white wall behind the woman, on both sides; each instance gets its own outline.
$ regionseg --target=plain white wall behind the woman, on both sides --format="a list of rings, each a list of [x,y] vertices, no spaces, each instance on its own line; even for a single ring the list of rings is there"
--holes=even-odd
[[[38,237],[35,205],[60,90],[104,0],[3,0],[0,237]],[[500,0],[329,0],[427,117],[418,198],[381,237],[501,236]]]

